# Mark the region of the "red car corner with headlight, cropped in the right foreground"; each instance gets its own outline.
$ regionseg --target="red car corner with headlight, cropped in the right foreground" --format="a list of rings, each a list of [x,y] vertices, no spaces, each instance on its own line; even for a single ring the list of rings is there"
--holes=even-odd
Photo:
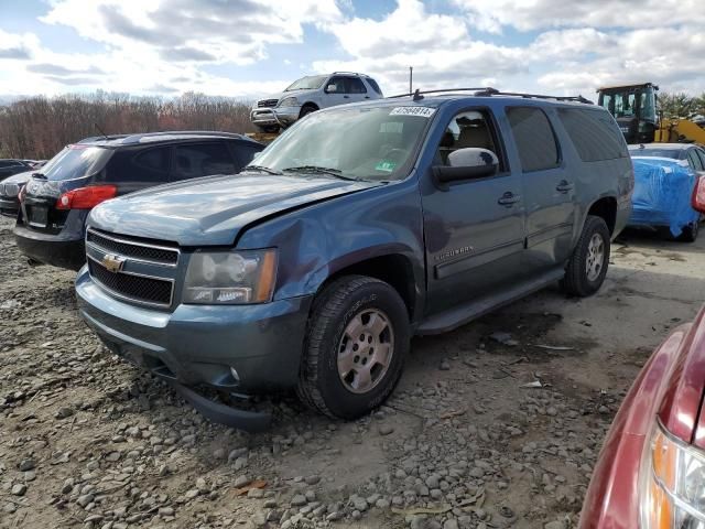
[[[595,467],[582,529],[705,528],[705,307],[651,356]]]

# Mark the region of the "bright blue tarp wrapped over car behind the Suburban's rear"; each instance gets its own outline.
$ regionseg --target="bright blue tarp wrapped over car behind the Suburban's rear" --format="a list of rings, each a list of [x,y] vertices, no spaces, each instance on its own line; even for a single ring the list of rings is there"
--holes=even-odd
[[[634,193],[630,226],[668,226],[673,237],[697,220],[691,198],[696,176],[687,162],[670,158],[632,158]]]

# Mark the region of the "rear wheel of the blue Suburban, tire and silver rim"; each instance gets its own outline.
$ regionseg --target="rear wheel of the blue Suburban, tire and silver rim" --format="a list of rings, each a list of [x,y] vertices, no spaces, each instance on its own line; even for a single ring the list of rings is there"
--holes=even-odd
[[[597,250],[596,245],[601,239],[601,262],[590,256],[592,248]],[[593,295],[599,290],[605,281],[607,268],[609,267],[610,236],[607,224],[600,217],[588,215],[583,227],[583,233],[573,250],[573,255],[565,268],[565,276],[561,281],[563,290],[581,298]],[[590,259],[592,257],[592,259]]]

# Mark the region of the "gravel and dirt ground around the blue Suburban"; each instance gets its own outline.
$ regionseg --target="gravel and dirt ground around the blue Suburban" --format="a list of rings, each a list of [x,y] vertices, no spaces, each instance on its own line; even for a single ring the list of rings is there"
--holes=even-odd
[[[104,349],[72,272],[30,268],[0,220],[0,527],[575,527],[640,366],[705,300],[696,245],[629,234],[600,293],[547,289],[415,338],[357,422],[291,395],[271,431],[203,420]]]

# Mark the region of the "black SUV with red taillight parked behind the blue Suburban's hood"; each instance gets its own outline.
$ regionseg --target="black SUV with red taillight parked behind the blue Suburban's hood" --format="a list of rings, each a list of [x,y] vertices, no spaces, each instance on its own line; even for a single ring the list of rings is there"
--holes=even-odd
[[[18,246],[34,261],[78,270],[86,262],[84,226],[94,206],[158,184],[238,173],[263,147],[241,134],[193,131],[70,144],[22,188]]]

